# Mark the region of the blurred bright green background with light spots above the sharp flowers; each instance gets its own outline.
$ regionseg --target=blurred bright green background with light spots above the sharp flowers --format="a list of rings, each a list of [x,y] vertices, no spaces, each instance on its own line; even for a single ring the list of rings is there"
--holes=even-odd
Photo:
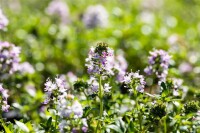
[[[168,50],[173,56],[170,74],[184,78],[187,85],[200,86],[199,0],[63,1],[69,8],[65,24],[46,13],[50,0],[1,0],[9,25],[0,39],[21,47],[22,61],[36,70],[31,78],[38,88],[56,74],[86,74],[85,58],[99,41],[116,51],[122,49],[128,69],[141,73],[149,51]],[[97,4],[107,10],[108,25],[88,29],[83,15],[88,6]],[[189,70],[182,70],[187,67]]]

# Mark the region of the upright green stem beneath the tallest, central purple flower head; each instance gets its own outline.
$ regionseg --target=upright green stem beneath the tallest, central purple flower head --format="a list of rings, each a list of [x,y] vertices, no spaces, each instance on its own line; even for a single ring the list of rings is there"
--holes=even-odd
[[[99,120],[98,120],[96,131],[95,131],[96,133],[98,132],[99,125],[101,123],[101,119],[103,116],[103,88],[101,86],[101,75],[99,76],[99,99],[100,99],[100,114],[99,114]],[[99,131],[101,132],[101,128],[99,129]]]

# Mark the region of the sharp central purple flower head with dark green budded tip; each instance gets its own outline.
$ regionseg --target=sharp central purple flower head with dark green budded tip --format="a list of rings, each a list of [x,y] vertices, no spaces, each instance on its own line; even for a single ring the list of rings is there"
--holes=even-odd
[[[113,75],[113,65],[108,61],[113,58],[113,50],[105,43],[98,43],[96,48],[91,48],[86,66],[89,74]]]

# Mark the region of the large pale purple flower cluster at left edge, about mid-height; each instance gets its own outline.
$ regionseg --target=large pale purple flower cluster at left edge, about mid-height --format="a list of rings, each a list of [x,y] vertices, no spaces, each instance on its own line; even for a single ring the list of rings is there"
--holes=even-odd
[[[0,42],[0,70],[1,73],[10,73],[19,69],[20,48],[8,42]]]

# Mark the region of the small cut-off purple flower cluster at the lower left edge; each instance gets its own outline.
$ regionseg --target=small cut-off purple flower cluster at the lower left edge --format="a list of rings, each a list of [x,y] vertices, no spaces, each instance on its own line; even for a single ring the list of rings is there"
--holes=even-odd
[[[2,87],[2,84],[0,84],[0,93],[1,93],[1,109],[3,112],[8,112],[8,109],[10,108],[10,105],[8,105],[7,99],[9,97],[8,90],[4,89]]]

